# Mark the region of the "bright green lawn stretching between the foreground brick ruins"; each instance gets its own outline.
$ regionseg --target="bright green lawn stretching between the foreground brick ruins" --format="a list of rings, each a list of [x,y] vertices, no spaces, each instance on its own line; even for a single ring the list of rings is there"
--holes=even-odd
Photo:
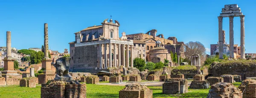
[[[118,98],[119,91],[125,86],[111,85],[87,85],[87,98]],[[40,85],[36,88],[19,87],[17,85],[0,87],[0,98],[40,98]],[[209,89],[189,89],[189,93],[168,95],[162,93],[162,87],[151,87],[154,98],[205,98],[208,95]]]

